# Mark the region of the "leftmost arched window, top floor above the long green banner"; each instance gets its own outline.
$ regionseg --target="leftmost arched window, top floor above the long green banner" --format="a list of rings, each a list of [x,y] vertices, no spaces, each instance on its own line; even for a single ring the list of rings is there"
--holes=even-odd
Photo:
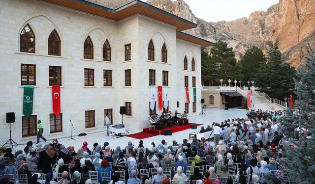
[[[35,53],[35,35],[28,24],[20,34],[20,52]]]

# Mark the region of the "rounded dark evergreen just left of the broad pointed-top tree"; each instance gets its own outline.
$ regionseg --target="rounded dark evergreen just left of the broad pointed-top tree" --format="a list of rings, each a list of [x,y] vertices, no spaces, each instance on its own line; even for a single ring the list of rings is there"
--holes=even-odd
[[[261,49],[256,46],[249,48],[244,58],[240,61],[244,82],[254,79],[254,74],[266,63],[266,57]]]

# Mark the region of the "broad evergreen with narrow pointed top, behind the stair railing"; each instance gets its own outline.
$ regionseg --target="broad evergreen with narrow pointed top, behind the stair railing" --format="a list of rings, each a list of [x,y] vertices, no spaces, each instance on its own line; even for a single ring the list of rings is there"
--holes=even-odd
[[[272,98],[283,99],[294,89],[295,69],[281,61],[278,40],[268,51],[267,63],[263,64],[254,75],[255,86]]]

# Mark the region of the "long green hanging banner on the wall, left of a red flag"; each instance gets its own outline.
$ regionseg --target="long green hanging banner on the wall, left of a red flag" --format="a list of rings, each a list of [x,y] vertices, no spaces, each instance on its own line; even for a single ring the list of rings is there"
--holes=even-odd
[[[24,97],[23,97],[23,114],[26,117],[30,117],[33,113],[33,94],[34,86],[24,86]]]

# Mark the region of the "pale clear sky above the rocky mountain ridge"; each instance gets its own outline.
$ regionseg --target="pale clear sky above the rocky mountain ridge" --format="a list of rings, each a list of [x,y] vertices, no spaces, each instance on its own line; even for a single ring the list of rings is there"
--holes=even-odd
[[[172,0],[175,1],[175,0]],[[207,22],[233,21],[267,9],[279,0],[185,0],[192,13]]]

